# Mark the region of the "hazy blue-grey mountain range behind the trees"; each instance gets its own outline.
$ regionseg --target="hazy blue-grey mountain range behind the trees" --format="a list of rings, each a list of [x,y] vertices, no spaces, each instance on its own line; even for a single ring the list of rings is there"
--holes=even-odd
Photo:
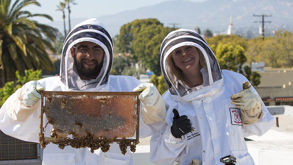
[[[97,17],[108,29],[112,36],[119,33],[123,24],[135,19],[156,18],[164,26],[195,29],[202,31],[210,29],[214,32],[227,30],[229,18],[232,16],[233,28],[258,28],[262,17],[253,14],[266,14],[264,21],[266,28],[271,30],[288,29],[293,31],[293,1],[292,0],[208,0],[204,2],[190,2],[187,0],[165,1],[152,6],[145,6],[135,10],[123,11],[113,15]],[[271,16],[270,16],[271,15]],[[72,18],[75,25],[88,18]],[[62,23],[56,23],[56,25]],[[53,27],[54,23],[52,24]],[[63,31],[63,27],[56,27]]]

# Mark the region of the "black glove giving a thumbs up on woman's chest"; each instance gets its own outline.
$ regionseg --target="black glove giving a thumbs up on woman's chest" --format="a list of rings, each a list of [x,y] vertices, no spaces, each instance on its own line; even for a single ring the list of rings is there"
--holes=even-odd
[[[191,122],[186,115],[179,116],[177,109],[173,109],[173,125],[171,126],[171,133],[175,138],[191,132]]]

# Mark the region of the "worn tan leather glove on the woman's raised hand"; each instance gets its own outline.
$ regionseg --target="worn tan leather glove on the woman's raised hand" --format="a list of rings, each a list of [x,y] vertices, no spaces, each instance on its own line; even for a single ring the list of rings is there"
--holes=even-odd
[[[241,109],[241,121],[246,125],[251,125],[262,117],[262,99],[250,89],[251,85],[245,81],[243,90],[231,95],[231,103]]]

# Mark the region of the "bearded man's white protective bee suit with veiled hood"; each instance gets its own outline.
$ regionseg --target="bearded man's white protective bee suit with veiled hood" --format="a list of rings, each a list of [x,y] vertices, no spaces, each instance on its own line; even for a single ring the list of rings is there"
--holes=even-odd
[[[96,79],[94,86],[86,85],[88,82],[80,80],[79,76],[73,72],[73,60],[70,53],[72,45],[81,41],[91,41],[99,44],[106,52],[104,65],[100,75]],[[132,92],[133,89],[141,84],[141,81],[130,76],[109,76],[112,59],[113,59],[113,43],[110,35],[105,27],[96,19],[89,19],[74,27],[68,34],[62,52],[61,71],[59,76],[48,77],[39,80],[46,91],[89,91],[89,92]],[[73,82],[74,80],[74,82]],[[92,81],[92,80],[91,80]],[[69,82],[69,83],[68,83]],[[86,85],[86,86],[84,86]],[[81,86],[82,89],[80,89]],[[12,94],[0,109],[0,129],[7,135],[24,141],[39,142],[40,132],[40,102],[36,103],[37,110],[26,118],[24,122],[12,120],[7,112],[23,110],[27,107],[23,105],[20,97],[22,89],[18,89]],[[153,132],[150,126],[141,122],[140,137],[150,136]],[[47,119],[43,122],[47,123]],[[52,125],[48,124],[45,129],[45,136],[50,137]],[[43,164],[46,165],[70,165],[70,164],[109,164],[109,165],[125,165],[134,164],[129,147],[125,155],[122,155],[119,145],[114,142],[110,145],[110,150],[106,153],[101,149],[94,153],[89,148],[72,148],[66,146],[61,150],[56,144],[48,144],[43,151]]]

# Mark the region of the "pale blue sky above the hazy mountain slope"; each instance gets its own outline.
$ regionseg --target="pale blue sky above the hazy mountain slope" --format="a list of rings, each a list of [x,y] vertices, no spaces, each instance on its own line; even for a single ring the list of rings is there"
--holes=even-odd
[[[54,21],[62,20],[62,12],[56,11],[57,5],[63,0],[37,0],[39,6],[28,6],[25,10],[31,13],[48,14]],[[75,0],[77,5],[71,5],[70,18],[93,18],[102,15],[117,14],[122,11],[134,10],[144,6],[152,6],[164,1],[171,0]],[[206,0],[189,0],[192,2],[204,2]],[[78,11],[78,12],[77,12]],[[65,10],[66,19],[68,17],[68,10]],[[41,23],[50,23],[47,19],[35,19]]]

